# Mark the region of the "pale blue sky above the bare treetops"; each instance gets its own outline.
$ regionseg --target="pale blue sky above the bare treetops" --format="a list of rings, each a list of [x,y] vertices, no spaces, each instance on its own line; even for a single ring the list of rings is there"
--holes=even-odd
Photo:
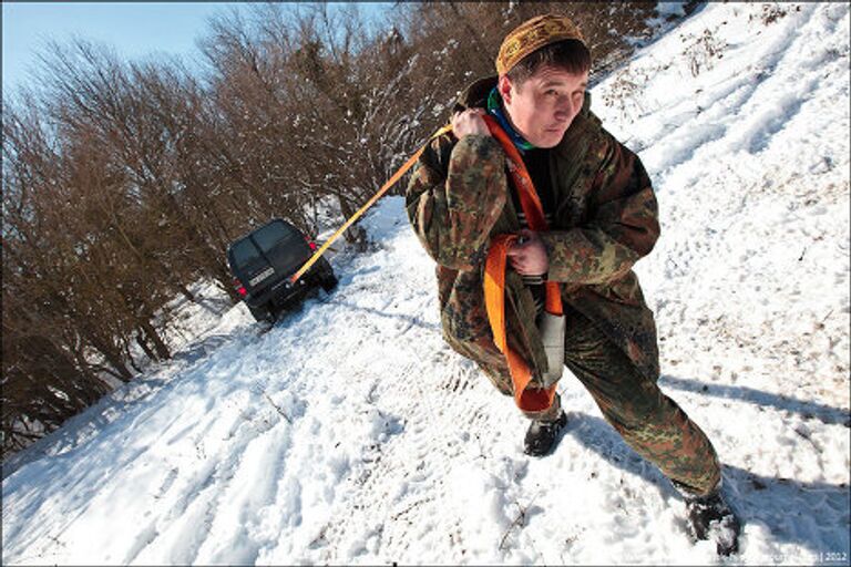
[[[378,13],[390,3],[363,3]],[[243,3],[243,7],[245,3]],[[16,89],[30,82],[37,53],[51,41],[76,35],[114,47],[126,59],[160,53],[199,55],[195,45],[207,19],[239,2],[8,2],[3,14],[2,86]]]

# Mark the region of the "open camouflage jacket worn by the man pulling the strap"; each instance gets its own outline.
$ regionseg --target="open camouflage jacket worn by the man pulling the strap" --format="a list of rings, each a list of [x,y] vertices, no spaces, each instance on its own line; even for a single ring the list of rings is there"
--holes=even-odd
[[[455,110],[484,106],[495,78],[473,83]],[[548,279],[562,284],[564,302],[594,321],[643,373],[658,375],[653,312],[632,267],[659,235],[656,198],[638,157],[582,111],[550,151],[555,210],[541,238]],[[521,226],[509,196],[505,155],[490,136],[451,134],[423,152],[406,193],[408,217],[437,261],[443,336],[510,394],[503,354],[493,343],[484,307],[483,274],[491,237]],[[535,327],[532,293],[512,269],[506,274],[509,342],[540,375],[546,369]]]

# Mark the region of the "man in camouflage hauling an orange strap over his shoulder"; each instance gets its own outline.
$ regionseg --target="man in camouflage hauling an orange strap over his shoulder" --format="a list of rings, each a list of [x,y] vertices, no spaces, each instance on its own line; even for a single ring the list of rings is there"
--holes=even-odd
[[[408,215],[438,262],[444,338],[531,419],[525,452],[547,454],[566,424],[545,378],[551,361],[537,327],[556,282],[556,309],[566,321],[564,365],[624,440],[674,482],[693,535],[714,538],[727,555],[737,549],[739,525],[720,493],[718,458],[704,432],[656,385],[653,312],[632,270],[658,238],[656,199],[638,157],[591,112],[589,69],[588,49],[567,18],[541,16],[513,30],[496,58],[499,76],[466,90],[452,134],[432,141],[420,157],[407,190]],[[505,132],[503,142],[489,123]],[[515,151],[522,164],[512,162]],[[523,179],[532,192],[521,187]],[[531,229],[526,218],[535,210],[531,193],[545,230]],[[494,279],[488,270],[498,241],[510,243],[504,302],[502,296],[486,300],[484,291],[485,280]],[[504,309],[504,317],[494,309]],[[517,378],[523,372],[529,382]]]

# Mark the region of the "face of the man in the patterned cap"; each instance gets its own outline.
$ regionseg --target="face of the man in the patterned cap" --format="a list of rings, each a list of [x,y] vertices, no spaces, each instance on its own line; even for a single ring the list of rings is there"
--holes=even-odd
[[[546,65],[522,84],[502,75],[499,91],[517,132],[536,147],[554,147],[580,113],[587,86],[587,71],[574,74]]]

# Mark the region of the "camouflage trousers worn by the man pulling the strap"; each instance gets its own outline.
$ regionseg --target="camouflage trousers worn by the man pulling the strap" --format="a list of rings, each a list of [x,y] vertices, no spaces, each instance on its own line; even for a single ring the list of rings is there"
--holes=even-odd
[[[715,488],[720,465],[704,432],[594,323],[570,308],[565,315],[565,365],[588,390],[606,421],[683,489],[706,494]],[[527,416],[546,420],[558,406],[556,396],[546,415]]]

